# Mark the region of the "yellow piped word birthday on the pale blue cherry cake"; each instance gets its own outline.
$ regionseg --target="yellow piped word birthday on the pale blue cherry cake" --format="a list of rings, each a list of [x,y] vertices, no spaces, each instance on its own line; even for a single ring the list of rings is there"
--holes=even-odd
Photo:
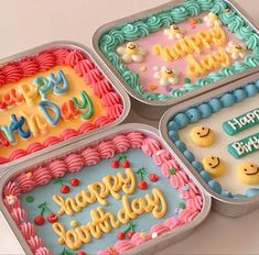
[[[129,201],[128,196],[122,196],[122,209],[117,214],[105,212],[101,207],[90,210],[91,221],[73,230],[66,230],[60,223],[53,223],[53,231],[58,235],[57,242],[66,244],[72,250],[79,248],[83,244],[91,242],[91,239],[100,239],[104,233],[118,229],[121,224],[127,224],[130,220],[144,212],[152,211],[153,217],[162,218],[168,210],[166,201],[162,191],[152,189],[152,193],[147,193],[144,198],[136,198]]]

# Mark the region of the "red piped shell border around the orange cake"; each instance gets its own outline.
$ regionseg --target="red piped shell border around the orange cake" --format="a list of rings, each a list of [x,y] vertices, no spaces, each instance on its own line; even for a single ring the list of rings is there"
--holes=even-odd
[[[123,104],[121,98],[101,71],[86,54],[68,47],[45,49],[32,56],[26,56],[17,62],[13,60],[0,66],[0,87],[7,84],[18,82],[20,79],[31,77],[40,71],[50,70],[56,65],[68,65],[75,69],[78,76],[84,77],[86,84],[100,98],[101,106],[106,107],[106,115],[98,117],[93,122],[85,121],[77,130],[65,129],[58,136],[48,136],[42,142],[31,142],[25,149],[14,148],[10,152],[9,157],[0,156],[0,164],[12,162],[50,145],[98,129],[114,122],[122,113]]]

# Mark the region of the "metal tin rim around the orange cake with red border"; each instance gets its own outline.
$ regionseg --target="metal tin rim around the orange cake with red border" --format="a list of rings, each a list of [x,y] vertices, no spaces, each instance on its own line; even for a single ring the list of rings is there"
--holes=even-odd
[[[115,120],[112,123],[108,123],[108,124],[106,124],[106,125],[104,125],[101,127],[98,127],[96,130],[88,131],[85,134],[80,134],[80,135],[74,136],[74,137],[68,138],[66,141],[62,141],[62,142],[60,142],[57,144],[54,144],[54,145],[52,145],[50,147],[40,149],[40,151],[37,151],[35,153],[32,153],[32,154],[29,154],[29,155],[23,156],[21,158],[18,158],[15,160],[9,162],[7,164],[2,164],[2,165],[0,165],[0,170],[1,171],[3,170],[3,168],[8,168],[8,167],[13,166],[15,164],[20,164],[23,160],[31,160],[32,157],[34,157],[34,156],[40,156],[40,155],[42,155],[44,153],[47,153],[50,151],[55,151],[55,149],[57,149],[57,148],[60,148],[60,147],[62,147],[64,145],[67,145],[67,144],[73,143],[73,142],[77,141],[77,140],[80,140],[82,137],[88,137],[88,136],[90,136],[93,134],[96,134],[96,133],[99,133],[99,132],[104,132],[105,130],[121,123],[128,117],[128,114],[129,114],[129,111],[130,111],[130,99],[129,99],[129,96],[127,95],[127,92],[121,88],[121,86],[118,85],[118,81],[114,78],[114,76],[111,76],[110,71],[107,70],[107,68],[95,57],[95,54],[93,53],[93,51],[90,51],[88,47],[86,47],[86,46],[84,46],[82,44],[74,43],[74,42],[68,42],[68,41],[57,41],[57,42],[47,43],[47,44],[44,44],[44,45],[34,47],[34,48],[31,48],[29,51],[25,51],[25,52],[12,55],[10,57],[3,58],[3,59],[0,60],[0,65],[4,65],[4,64],[10,63],[10,62],[19,60],[19,59],[21,59],[23,57],[34,55],[34,54],[36,54],[39,52],[44,51],[44,49],[52,49],[52,48],[58,48],[58,47],[75,48],[75,49],[79,49],[80,52],[86,54],[87,57],[101,71],[101,74],[104,74],[106,79],[112,85],[112,88],[115,89],[115,91],[120,96],[121,101],[123,103],[123,111],[120,114],[120,117],[117,120]],[[0,175],[2,173],[0,173]]]

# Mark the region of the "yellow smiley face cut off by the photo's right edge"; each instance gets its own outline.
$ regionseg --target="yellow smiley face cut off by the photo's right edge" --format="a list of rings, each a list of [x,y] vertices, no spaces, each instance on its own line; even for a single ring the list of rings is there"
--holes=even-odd
[[[246,185],[259,184],[259,166],[255,163],[242,163],[238,167],[237,176]]]

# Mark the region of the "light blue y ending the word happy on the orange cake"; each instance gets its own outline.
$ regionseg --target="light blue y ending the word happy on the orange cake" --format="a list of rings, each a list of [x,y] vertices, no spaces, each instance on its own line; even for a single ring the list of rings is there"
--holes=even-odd
[[[55,75],[52,73],[47,76],[47,79],[54,86],[54,89],[53,89],[54,93],[57,93],[57,95],[65,93],[69,88],[68,81],[62,70],[57,70],[56,75],[57,76],[55,77]]]

